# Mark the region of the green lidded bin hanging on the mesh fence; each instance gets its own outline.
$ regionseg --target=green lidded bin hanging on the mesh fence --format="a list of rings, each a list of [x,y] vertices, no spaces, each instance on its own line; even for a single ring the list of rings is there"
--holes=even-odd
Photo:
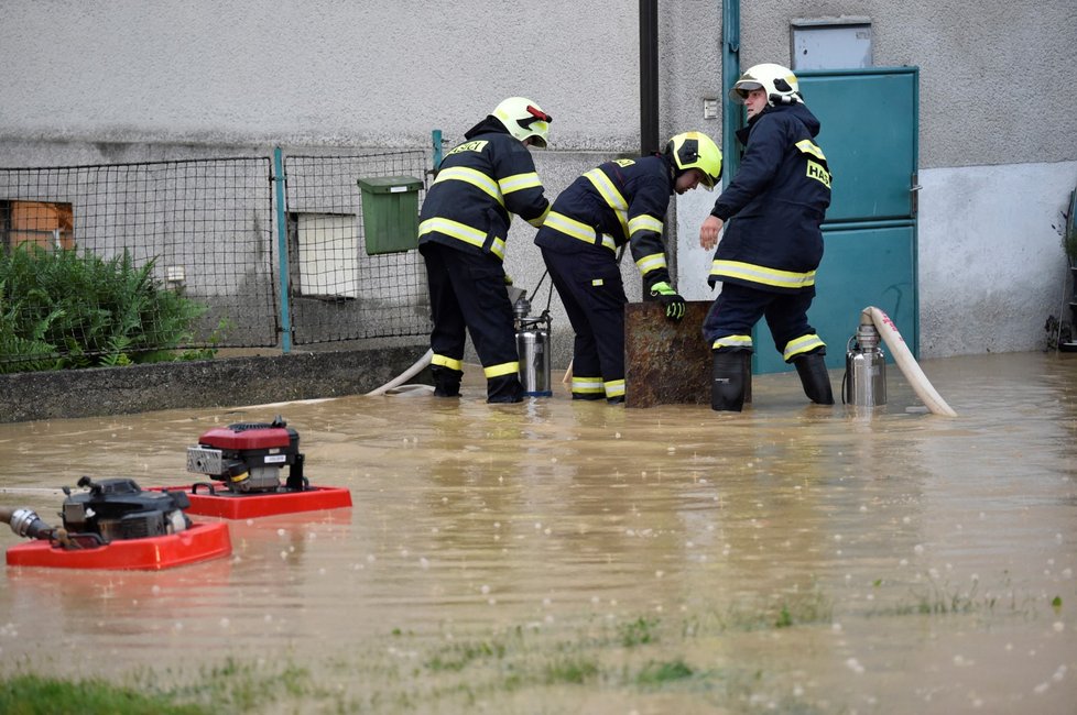
[[[378,176],[358,180],[367,255],[418,248],[418,189],[414,176]]]

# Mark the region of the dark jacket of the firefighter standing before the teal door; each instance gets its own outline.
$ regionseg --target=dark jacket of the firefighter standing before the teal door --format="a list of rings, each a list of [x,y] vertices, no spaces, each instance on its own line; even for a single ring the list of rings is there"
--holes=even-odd
[[[738,132],[740,169],[711,215],[726,222],[707,280],[773,293],[815,285],[830,170],[814,142],[819,121],[802,103],[777,105]]]

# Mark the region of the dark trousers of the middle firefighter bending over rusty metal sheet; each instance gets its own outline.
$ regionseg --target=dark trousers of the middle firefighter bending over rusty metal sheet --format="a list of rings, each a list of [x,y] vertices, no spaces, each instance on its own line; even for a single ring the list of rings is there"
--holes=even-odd
[[[613,253],[543,248],[542,257],[576,333],[573,398],[622,402],[628,298]]]

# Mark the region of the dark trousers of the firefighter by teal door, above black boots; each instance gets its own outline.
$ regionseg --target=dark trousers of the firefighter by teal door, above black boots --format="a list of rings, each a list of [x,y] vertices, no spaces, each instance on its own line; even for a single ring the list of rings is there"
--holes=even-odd
[[[774,348],[785,362],[792,362],[826,349],[807,321],[813,298],[814,286],[799,293],[770,293],[724,283],[703,323],[703,337],[719,352],[752,351],[752,328],[765,317]]]

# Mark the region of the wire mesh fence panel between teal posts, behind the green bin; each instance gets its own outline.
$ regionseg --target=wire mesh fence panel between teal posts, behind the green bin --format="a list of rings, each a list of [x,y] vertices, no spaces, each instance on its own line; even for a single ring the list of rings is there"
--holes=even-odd
[[[425,267],[410,250],[417,241],[425,152],[290,155],[284,167],[296,344],[427,332]],[[401,190],[363,191],[359,182],[379,184],[371,179],[392,179],[389,190]],[[388,206],[376,206],[381,202]],[[379,227],[380,218],[401,218],[402,226]],[[379,228],[392,235],[376,237]]]

